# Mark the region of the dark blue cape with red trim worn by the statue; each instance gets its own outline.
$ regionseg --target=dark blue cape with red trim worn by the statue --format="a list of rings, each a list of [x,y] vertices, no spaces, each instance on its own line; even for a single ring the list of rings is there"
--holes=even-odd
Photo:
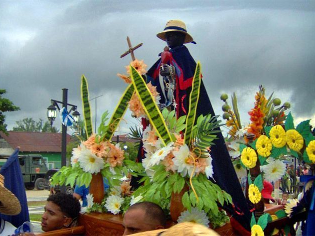
[[[177,117],[186,115],[188,112],[188,99],[191,92],[192,78],[196,68],[196,62],[190,55],[185,46],[179,46],[171,49],[172,58],[167,64],[171,64],[176,70],[176,92],[174,94],[178,104]],[[157,91],[161,94],[161,88],[158,81],[158,73],[161,59],[159,59],[147,73],[147,83],[151,81],[157,86]],[[162,98],[163,96],[161,96]],[[162,98],[163,99],[163,98]],[[163,103],[164,101],[160,101]],[[197,117],[200,115],[211,114],[215,116],[208,94],[204,84],[201,81],[200,96],[197,105]],[[213,178],[221,189],[232,196],[233,206],[224,206],[224,208],[233,215],[233,217],[247,230],[250,231],[250,212],[243,195],[240,183],[235,173],[230,155],[225,145],[222,133],[217,134],[218,139],[214,140],[215,145],[211,146],[211,156],[214,175]],[[235,211],[237,209],[237,211]]]

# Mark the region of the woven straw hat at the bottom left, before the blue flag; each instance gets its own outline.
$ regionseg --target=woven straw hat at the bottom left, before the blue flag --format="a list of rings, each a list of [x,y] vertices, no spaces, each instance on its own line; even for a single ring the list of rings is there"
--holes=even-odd
[[[0,174],[0,213],[14,216],[21,212],[21,204],[13,193],[4,187],[4,177]]]

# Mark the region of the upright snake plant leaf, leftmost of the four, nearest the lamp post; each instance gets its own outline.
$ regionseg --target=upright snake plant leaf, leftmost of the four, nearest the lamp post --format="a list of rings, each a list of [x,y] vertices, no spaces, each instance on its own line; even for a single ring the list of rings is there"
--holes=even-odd
[[[89,102],[88,81],[86,80],[84,75],[82,75],[82,79],[81,79],[81,98],[82,98],[83,117],[85,120],[84,122],[85,131],[86,131],[87,137],[89,137],[93,133],[93,127],[92,127],[91,107],[90,107],[90,102]]]

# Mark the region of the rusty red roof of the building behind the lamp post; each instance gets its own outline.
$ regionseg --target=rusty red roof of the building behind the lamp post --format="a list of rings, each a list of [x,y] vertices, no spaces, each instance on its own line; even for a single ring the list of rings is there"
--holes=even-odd
[[[25,152],[61,152],[61,133],[8,131],[8,134],[0,131],[0,138],[13,149],[19,146],[20,151]],[[67,143],[70,138],[71,135],[67,134]]]

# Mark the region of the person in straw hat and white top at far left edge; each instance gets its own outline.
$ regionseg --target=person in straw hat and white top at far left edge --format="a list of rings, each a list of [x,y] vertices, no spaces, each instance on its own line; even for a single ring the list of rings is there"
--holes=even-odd
[[[4,187],[4,177],[0,174],[0,213],[15,216],[21,211],[21,205],[15,195]],[[10,222],[0,218],[0,235],[13,235],[14,227]]]

